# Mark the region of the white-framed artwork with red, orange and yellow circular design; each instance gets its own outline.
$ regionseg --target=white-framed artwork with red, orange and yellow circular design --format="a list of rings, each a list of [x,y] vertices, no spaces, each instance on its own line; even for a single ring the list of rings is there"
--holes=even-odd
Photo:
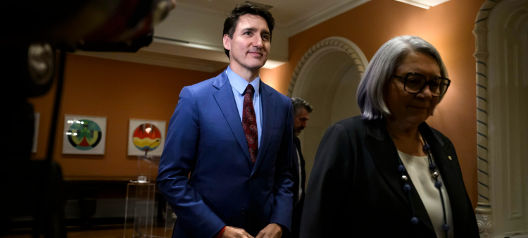
[[[165,120],[130,119],[129,156],[161,156],[165,144]]]

